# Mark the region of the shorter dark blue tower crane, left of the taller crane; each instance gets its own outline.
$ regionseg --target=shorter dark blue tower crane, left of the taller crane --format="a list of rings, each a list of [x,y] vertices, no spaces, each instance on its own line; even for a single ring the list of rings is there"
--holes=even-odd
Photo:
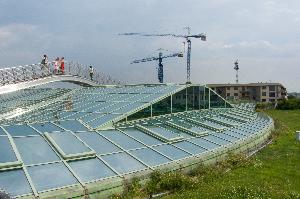
[[[158,60],[157,77],[158,77],[159,83],[163,83],[164,82],[164,68],[163,68],[162,60],[165,58],[169,58],[169,57],[183,57],[183,54],[182,53],[173,53],[173,54],[163,56],[163,53],[159,52],[158,57],[148,57],[148,58],[144,58],[144,59],[137,59],[137,60],[132,61],[131,64],[137,64],[137,63],[141,63],[141,62],[149,62],[149,61]]]

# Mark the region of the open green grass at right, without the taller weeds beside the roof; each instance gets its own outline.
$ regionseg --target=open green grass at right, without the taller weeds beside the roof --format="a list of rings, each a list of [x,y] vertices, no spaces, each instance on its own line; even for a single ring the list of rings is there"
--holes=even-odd
[[[267,112],[279,134],[250,164],[167,198],[300,198],[300,110]]]

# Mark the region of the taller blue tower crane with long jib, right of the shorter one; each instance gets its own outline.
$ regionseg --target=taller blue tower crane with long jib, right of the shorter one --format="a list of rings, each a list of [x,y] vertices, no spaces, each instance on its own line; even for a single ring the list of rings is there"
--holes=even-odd
[[[191,42],[191,38],[200,38],[202,41],[206,41],[206,35],[201,33],[201,34],[194,34],[191,35],[190,31],[191,28],[190,27],[185,27],[185,29],[188,30],[188,34],[187,35],[177,35],[177,34],[144,34],[144,33],[122,33],[119,35],[140,35],[140,36],[146,36],[146,37],[151,37],[151,36],[159,36],[159,37],[181,37],[181,38],[185,38],[186,42],[187,42],[187,56],[186,56],[186,83],[191,83],[191,52],[192,52],[192,42]]]

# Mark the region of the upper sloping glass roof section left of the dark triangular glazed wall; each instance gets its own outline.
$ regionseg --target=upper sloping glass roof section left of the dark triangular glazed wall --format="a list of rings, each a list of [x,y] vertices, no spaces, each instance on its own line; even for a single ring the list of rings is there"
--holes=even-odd
[[[81,89],[25,89],[0,96],[2,123],[77,119],[98,128],[149,106],[157,98],[185,88],[183,85],[91,87]],[[0,117],[1,120],[1,117]],[[42,124],[37,128],[45,128]],[[17,127],[14,127],[17,128]],[[23,132],[21,133],[23,134]]]

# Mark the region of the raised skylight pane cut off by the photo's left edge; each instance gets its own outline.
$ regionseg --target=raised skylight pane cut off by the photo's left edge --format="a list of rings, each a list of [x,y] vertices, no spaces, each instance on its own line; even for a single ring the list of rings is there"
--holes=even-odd
[[[13,148],[6,136],[0,136],[0,163],[17,161]]]

